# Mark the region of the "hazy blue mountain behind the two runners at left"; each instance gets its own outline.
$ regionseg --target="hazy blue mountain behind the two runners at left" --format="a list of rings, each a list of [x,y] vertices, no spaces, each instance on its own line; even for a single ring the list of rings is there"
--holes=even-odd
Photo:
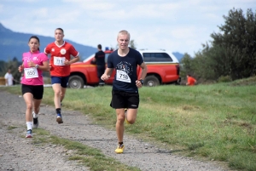
[[[0,23],[0,60],[8,61],[16,57],[17,60],[21,61],[22,54],[29,51],[27,43],[31,36],[33,36],[33,34],[11,31]],[[36,36],[40,39],[40,51],[42,52],[47,44],[55,41],[54,37]],[[85,59],[90,56],[90,54],[94,54],[97,51],[97,48],[74,43],[67,39],[65,39],[65,41],[73,44],[76,50],[79,51],[81,59]]]

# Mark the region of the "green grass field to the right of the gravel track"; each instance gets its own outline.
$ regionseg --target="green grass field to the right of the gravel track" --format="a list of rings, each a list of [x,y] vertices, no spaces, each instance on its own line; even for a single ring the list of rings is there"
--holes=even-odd
[[[232,83],[166,85],[140,89],[137,122],[125,134],[165,144],[173,153],[227,162],[230,168],[256,170],[256,77]],[[20,94],[20,87],[8,88]],[[110,129],[115,111],[111,86],[67,89],[64,107],[89,114]],[[44,104],[53,105],[52,88]]]

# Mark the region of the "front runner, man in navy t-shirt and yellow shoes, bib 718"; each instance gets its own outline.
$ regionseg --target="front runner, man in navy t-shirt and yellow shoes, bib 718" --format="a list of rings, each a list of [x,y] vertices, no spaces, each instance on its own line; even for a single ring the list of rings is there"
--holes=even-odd
[[[123,153],[125,145],[124,122],[133,124],[137,117],[139,106],[138,88],[143,87],[143,79],[147,75],[147,66],[143,61],[143,56],[137,50],[129,48],[130,33],[119,31],[117,42],[119,49],[113,51],[108,56],[108,67],[102,75],[102,80],[108,80],[115,68],[116,74],[113,80],[111,106],[116,112],[116,134],[118,147],[116,153]],[[137,66],[143,69],[142,76],[138,79]],[[127,111],[125,111],[127,109]]]

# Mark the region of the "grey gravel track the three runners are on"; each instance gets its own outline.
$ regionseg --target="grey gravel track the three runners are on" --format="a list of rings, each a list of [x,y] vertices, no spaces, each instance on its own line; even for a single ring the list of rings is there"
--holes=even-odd
[[[90,170],[77,162],[67,160],[67,150],[59,145],[36,147],[25,138],[26,105],[22,97],[0,89],[0,170]],[[172,151],[125,136],[125,152],[115,154],[115,131],[93,124],[90,117],[79,111],[62,111],[63,124],[55,122],[53,106],[42,105],[39,128],[58,137],[79,141],[100,149],[108,157],[145,171],[224,171],[229,170],[217,162],[195,161],[178,157]],[[12,131],[9,126],[19,126]],[[37,136],[34,134],[34,136]],[[117,168],[118,170],[118,168]]]

